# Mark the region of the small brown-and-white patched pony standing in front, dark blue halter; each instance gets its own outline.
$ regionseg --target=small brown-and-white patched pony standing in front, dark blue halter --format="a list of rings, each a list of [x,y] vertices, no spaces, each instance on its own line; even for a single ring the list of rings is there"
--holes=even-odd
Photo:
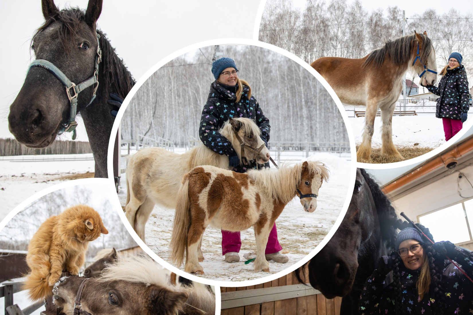
[[[200,243],[209,224],[228,231],[253,226],[254,271],[269,272],[264,249],[274,221],[297,194],[304,210],[314,212],[319,188],[327,179],[328,169],[322,162],[245,174],[209,165],[194,168],[184,176],[178,193],[170,244],[172,263],[180,266],[186,250],[184,271],[203,274]]]

